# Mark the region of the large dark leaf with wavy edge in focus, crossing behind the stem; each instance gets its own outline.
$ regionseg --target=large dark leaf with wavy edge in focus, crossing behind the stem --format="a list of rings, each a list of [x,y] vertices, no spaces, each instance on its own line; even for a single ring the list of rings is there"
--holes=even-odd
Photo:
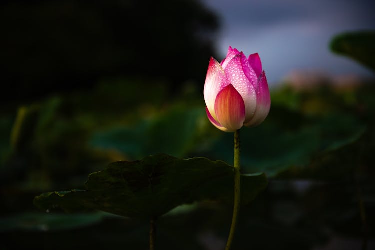
[[[35,197],[43,209],[102,210],[145,217],[198,200],[233,199],[233,167],[207,158],[180,160],[165,154],[120,161],[89,175],[84,190],[47,192]],[[264,174],[242,175],[242,202],[248,203],[267,185]]]

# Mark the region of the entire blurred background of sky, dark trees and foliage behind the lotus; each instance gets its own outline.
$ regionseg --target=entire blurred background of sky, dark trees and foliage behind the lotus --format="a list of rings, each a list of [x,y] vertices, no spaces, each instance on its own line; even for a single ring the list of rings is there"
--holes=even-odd
[[[272,100],[241,130],[243,172],[269,184],[241,208],[233,248],[375,249],[373,1],[0,5],[0,249],[147,249],[146,221],[32,200],[158,152],[231,164],[232,134],[209,123],[203,99],[209,58],[229,45],[259,53]],[[223,249],[231,210],[164,215],[157,248]]]

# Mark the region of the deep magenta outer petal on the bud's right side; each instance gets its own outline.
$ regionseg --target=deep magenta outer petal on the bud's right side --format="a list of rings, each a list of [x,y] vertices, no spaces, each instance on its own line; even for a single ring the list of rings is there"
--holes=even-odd
[[[250,121],[244,124],[245,126],[253,127],[262,123],[267,117],[271,107],[271,96],[269,94],[267,78],[265,77],[264,71],[261,73],[258,81],[259,87],[256,92],[257,104],[255,114]]]

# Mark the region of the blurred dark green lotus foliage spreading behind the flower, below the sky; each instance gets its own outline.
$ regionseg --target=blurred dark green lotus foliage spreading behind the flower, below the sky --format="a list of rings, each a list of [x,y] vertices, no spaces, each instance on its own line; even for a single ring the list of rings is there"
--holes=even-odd
[[[49,97],[22,106],[18,115],[2,114],[0,129],[6,135],[0,143],[0,222],[1,236],[7,240],[1,247],[24,247],[27,240],[28,246],[45,243],[63,249],[73,242],[57,246],[61,237],[79,234],[79,241],[71,239],[83,246],[90,234],[100,234],[101,243],[84,244],[146,248],[147,221],[67,214],[61,215],[67,221],[62,228],[44,227],[40,225],[49,225],[59,214],[35,214],[32,199],[43,191],[84,188],[87,174],[108,162],[158,152],[231,163],[232,134],[209,123],[201,90],[187,84],[170,95],[162,81],[149,81],[108,79],[91,91]],[[265,171],[270,182],[241,208],[236,249],[247,249],[242,244],[249,238],[256,249],[312,249],[326,244],[332,234],[357,239],[359,246],[364,227],[359,201],[367,214],[365,232],[373,239],[374,86],[369,82],[301,89],[286,84],[272,90],[264,123],[241,130],[243,173]],[[158,247],[220,248],[231,209],[203,202],[167,213],[157,222]]]

